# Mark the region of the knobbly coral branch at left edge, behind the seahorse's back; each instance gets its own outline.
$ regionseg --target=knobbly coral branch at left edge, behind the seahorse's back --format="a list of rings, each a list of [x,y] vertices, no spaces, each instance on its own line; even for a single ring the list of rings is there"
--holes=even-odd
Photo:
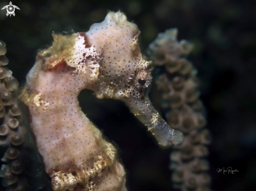
[[[17,98],[18,81],[8,64],[5,43],[0,41],[0,146],[6,148],[0,170],[3,186],[7,190],[47,189],[47,174],[43,170],[34,142],[28,132],[24,113]]]

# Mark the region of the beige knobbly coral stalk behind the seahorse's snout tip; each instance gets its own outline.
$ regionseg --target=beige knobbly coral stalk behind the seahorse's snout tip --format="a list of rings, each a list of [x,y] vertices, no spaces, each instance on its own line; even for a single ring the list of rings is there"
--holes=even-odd
[[[210,143],[204,108],[199,100],[198,80],[192,63],[182,55],[190,53],[192,44],[176,40],[177,29],[160,33],[150,45],[155,65],[165,68],[156,83],[162,90],[166,119],[184,134],[184,141],[171,153],[173,187],[180,190],[209,190],[208,149]]]

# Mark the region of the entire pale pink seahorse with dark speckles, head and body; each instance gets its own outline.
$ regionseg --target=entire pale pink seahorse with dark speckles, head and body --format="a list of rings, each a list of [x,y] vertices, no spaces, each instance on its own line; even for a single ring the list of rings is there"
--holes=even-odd
[[[88,32],[53,34],[52,46],[38,53],[21,98],[54,190],[126,190],[116,149],[79,107],[83,89],[123,100],[160,145],[182,141],[144,94],[152,62],[142,58],[138,35],[124,14],[110,12]]]

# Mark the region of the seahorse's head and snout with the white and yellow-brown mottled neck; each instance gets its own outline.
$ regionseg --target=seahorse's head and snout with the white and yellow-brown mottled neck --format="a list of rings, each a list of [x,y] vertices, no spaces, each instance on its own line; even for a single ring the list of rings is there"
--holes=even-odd
[[[52,46],[38,54],[38,61],[43,70],[52,71],[60,65],[73,68],[72,86],[93,90],[100,99],[124,101],[160,145],[179,144],[182,133],[164,122],[145,93],[152,81],[152,61],[142,57],[139,34],[137,25],[127,21],[123,13],[109,12],[88,32],[53,34]]]

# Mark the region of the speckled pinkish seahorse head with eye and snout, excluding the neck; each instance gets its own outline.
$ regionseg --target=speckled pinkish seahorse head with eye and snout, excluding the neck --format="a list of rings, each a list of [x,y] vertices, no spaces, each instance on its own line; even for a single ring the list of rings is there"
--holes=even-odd
[[[97,80],[90,89],[97,98],[123,100],[162,146],[180,144],[181,132],[173,130],[153,108],[146,89],[152,81],[152,61],[143,59],[140,31],[121,13],[110,12],[101,23],[85,33],[85,44],[98,53]],[[92,63],[96,57],[92,58]],[[94,76],[94,74],[93,74]]]

